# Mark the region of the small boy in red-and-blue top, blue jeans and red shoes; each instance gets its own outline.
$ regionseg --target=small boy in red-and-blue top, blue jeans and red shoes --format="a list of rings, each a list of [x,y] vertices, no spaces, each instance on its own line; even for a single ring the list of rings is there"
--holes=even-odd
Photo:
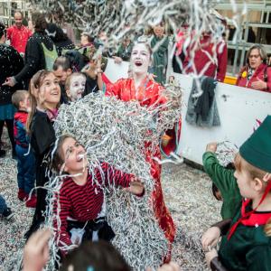
[[[18,199],[25,202],[26,207],[35,208],[36,196],[30,192],[35,181],[35,159],[33,151],[29,149],[29,138],[26,135],[26,120],[30,110],[29,93],[26,90],[17,90],[12,96],[14,107],[17,112],[14,114],[14,139],[17,154],[17,182],[19,187]],[[29,198],[30,196],[30,198]]]

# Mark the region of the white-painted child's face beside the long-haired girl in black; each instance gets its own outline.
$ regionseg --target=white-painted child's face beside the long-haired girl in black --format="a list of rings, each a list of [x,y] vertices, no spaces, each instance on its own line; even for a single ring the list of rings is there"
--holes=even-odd
[[[66,80],[66,95],[71,102],[82,98],[86,87],[86,76],[81,72],[72,73]]]

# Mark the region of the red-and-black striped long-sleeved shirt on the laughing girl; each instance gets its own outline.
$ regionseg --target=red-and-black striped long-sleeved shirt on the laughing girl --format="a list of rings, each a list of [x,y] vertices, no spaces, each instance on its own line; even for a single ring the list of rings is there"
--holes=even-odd
[[[67,232],[67,218],[85,222],[95,220],[102,209],[104,201],[103,187],[114,185],[128,187],[131,181],[131,174],[123,173],[111,167],[101,164],[102,171],[95,170],[97,182],[94,182],[92,175],[88,174],[88,180],[84,185],[75,183],[72,178],[66,178],[61,184],[61,190],[56,194],[54,201],[54,214],[59,211],[61,220],[57,236],[61,244],[70,246],[70,235]],[[54,228],[57,229],[57,221],[54,220]],[[61,245],[62,246],[62,245]]]

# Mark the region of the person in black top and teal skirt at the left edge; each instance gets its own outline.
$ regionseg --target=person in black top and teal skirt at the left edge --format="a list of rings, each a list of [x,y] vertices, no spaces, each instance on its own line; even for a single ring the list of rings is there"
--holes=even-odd
[[[12,105],[12,95],[16,89],[22,86],[17,84],[15,87],[5,86],[7,76],[14,76],[23,69],[23,59],[19,52],[12,46],[5,44],[6,31],[5,25],[0,23],[0,141],[4,125],[7,127],[9,139],[12,145],[13,157],[15,157],[14,142],[14,106]],[[0,157],[5,156],[5,150],[1,149]]]

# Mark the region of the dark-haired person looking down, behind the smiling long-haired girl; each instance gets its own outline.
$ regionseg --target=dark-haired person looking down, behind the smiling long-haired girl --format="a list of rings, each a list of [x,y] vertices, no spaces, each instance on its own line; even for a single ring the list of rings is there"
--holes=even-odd
[[[61,87],[61,104],[67,104],[68,98],[65,91],[66,79],[72,73],[70,59],[67,57],[58,57],[52,66],[53,74],[59,79]]]

